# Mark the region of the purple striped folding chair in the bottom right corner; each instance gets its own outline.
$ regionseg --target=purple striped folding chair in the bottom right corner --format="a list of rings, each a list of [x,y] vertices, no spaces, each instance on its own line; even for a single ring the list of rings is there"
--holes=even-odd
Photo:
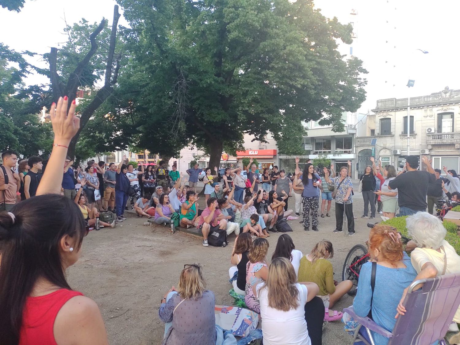
[[[424,283],[417,291],[414,288]],[[460,274],[437,276],[413,282],[409,288],[404,306],[405,315],[400,315],[392,332],[377,325],[368,317],[357,316],[353,307],[345,308],[359,325],[350,345],[362,341],[366,345],[375,345],[371,331],[389,338],[388,345],[431,345],[439,341],[445,345],[444,337],[454,314],[460,305]],[[395,315],[397,311],[395,308]],[[359,334],[361,327],[366,328],[370,343]]]

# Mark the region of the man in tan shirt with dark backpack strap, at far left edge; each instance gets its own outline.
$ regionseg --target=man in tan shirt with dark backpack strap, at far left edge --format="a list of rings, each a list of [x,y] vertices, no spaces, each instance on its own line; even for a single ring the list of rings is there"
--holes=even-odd
[[[17,192],[21,187],[21,178],[12,169],[16,167],[17,154],[5,151],[1,154],[3,166],[0,168],[0,210],[11,211],[17,201]]]

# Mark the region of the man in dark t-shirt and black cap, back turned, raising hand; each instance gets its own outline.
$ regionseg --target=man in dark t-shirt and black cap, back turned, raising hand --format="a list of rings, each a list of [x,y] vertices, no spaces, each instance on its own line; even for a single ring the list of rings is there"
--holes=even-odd
[[[425,156],[422,157],[422,161],[428,167],[428,172],[417,170],[419,160],[416,156],[407,156],[407,172],[388,183],[388,189],[398,190],[400,216],[409,216],[417,212],[426,211],[428,184],[436,181],[436,175]]]

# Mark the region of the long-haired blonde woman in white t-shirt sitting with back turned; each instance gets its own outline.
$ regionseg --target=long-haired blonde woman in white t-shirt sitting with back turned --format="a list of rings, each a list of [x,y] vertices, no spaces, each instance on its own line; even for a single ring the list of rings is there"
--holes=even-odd
[[[288,259],[273,259],[266,281],[253,290],[260,301],[264,345],[311,345],[309,334],[322,333],[321,323],[312,322],[316,326],[313,329],[308,324],[310,318],[322,317],[322,308],[311,308],[308,303],[315,298],[318,287],[312,282],[298,283]]]

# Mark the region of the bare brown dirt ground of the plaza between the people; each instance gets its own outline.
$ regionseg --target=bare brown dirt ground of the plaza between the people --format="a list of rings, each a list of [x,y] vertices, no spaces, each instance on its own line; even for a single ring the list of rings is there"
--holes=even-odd
[[[335,254],[331,261],[338,281],[349,249],[357,243],[363,244],[369,234],[366,227],[369,220],[360,218],[363,202],[359,193],[353,205],[357,217],[355,236],[332,233],[334,203],[331,217],[319,218],[319,232],[304,231],[300,219],[289,221],[293,228],[289,235],[296,249],[304,254],[310,253],[319,240],[333,242]],[[68,271],[70,286],[99,305],[110,344],[161,344],[164,323],[158,318],[160,301],[171,286],[177,286],[184,264],[201,263],[207,288],[214,292],[216,303],[231,305],[228,269],[235,235],[230,236],[229,246],[225,248],[203,247],[201,237],[184,232],[171,234],[162,226],[144,226],[145,218],[126,216],[127,220],[115,229],[91,231],[83,242],[80,260]],[[268,258],[280,235],[270,234]],[[351,304],[352,298],[345,295],[334,309],[341,311]],[[323,345],[346,344],[350,340],[340,321],[329,323],[323,333]]]

